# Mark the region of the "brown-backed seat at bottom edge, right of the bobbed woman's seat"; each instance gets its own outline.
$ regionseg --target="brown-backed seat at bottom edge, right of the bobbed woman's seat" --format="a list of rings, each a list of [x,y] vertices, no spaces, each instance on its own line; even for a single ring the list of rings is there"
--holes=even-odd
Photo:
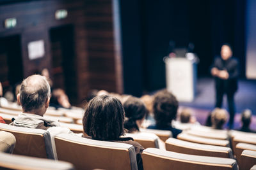
[[[236,160],[205,157],[147,148],[142,153],[144,170],[148,169],[238,169]]]

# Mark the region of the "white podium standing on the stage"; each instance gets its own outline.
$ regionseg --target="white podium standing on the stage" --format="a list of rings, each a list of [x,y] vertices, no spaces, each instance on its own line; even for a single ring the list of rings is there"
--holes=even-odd
[[[191,102],[196,92],[196,63],[185,57],[164,58],[166,67],[166,89],[178,101]]]

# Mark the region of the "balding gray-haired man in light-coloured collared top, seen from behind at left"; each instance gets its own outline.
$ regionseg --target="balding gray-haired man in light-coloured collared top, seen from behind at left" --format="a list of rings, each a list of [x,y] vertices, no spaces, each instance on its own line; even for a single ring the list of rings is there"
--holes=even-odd
[[[44,76],[35,74],[23,80],[17,94],[17,102],[22,106],[22,113],[11,125],[49,131],[54,145],[54,137],[57,134],[73,133],[65,127],[60,127],[56,120],[44,118],[44,113],[49,107],[50,95],[50,85]]]

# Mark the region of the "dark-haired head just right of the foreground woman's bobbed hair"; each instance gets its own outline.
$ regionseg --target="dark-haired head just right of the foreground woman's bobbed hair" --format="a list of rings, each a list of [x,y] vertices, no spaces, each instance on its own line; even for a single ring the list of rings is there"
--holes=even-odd
[[[148,113],[148,110],[138,97],[130,96],[124,103],[125,117],[127,120],[124,122],[125,129],[131,131],[139,131],[136,120],[143,120]]]

